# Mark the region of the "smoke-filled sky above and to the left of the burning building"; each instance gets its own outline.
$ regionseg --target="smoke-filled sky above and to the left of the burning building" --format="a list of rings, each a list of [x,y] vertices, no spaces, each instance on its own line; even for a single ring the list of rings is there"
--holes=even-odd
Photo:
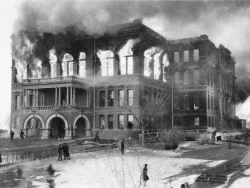
[[[248,75],[250,59],[250,2],[248,1],[14,1],[0,6],[0,122],[10,112],[11,39],[22,29],[62,31],[75,24],[89,33],[107,24],[142,18],[168,39],[207,34],[236,58],[238,75]],[[240,71],[239,71],[240,70]],[[243,71],[243,72],[242,72]],[[240,74],[239,74],[240,72]],[[2,124],[0,124],[2,126]]]

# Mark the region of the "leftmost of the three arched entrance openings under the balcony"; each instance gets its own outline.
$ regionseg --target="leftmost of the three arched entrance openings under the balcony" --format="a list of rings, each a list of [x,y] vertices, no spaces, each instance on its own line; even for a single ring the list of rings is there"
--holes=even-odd
[[[42,122],[36,117],[30,118],[26,123],[26,136],[41,138],[42,136]]]

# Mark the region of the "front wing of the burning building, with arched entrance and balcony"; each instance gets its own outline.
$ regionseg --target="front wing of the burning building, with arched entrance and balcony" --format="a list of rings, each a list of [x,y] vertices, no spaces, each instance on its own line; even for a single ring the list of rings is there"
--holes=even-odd
[[[125,107],[139,114],[145,90],[169,92],[167,40],[141,21],[95,37],[32,36],[14,38],[21,41],[13,50],[13,130],[41,138],[90,137],[97,130],[102,137],[133,136],[139,123]]]

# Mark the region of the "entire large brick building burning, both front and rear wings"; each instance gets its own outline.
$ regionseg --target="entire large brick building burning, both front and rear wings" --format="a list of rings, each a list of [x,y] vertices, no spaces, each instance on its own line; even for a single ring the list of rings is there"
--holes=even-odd
[[[224,128],[236,121],[235,61],[206,35],[167,40],[140,20],[100,36],[75,33],[13,37],[12,130],[41,138],[95,131],[138,136],[134,115],[146,92],[172,94],[171,115],[157,122],[161,128]]]

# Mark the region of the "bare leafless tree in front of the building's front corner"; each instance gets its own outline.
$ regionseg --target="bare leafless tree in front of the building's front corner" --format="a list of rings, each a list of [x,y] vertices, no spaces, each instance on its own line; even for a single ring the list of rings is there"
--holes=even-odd
[[[144,146],[145,130],[148,128],[149,123],[153,122],[154,127],[156,127],[156,120],[169,114],[171,101],[168,93],[160,92],[148,92],[142,99],[142,106],[139,114],[137,114],[131,106],[123,105],[122,107],[129,111],[139,123],[142,135],[142,145]]]

